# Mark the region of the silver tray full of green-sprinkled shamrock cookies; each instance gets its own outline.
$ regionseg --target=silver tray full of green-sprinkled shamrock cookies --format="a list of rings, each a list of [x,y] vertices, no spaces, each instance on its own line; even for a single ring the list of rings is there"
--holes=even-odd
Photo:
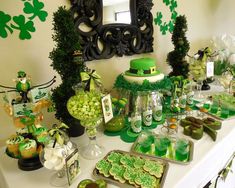
[[[161,159],[112,150],[96,163],[93,175],[122,188],[162,188],[168,168]]]

